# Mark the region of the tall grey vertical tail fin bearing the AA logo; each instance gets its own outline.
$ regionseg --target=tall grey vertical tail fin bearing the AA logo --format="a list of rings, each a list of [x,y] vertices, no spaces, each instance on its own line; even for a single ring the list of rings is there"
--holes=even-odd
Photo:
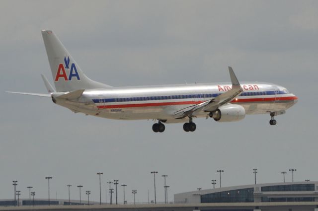
[[[56,91],[107,88],[109,85],[89,79],[76,64],[59,38],[51,30],[42,30]],[[47,83],[44,83],[47,86]],[[47,89],[53,88],[52,86]]]

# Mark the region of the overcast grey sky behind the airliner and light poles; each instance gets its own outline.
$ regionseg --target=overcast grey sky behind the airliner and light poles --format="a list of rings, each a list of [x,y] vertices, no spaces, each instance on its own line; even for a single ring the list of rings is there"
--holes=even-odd
[[[281,182],[296,168],[296,181],[318,180],[318,1],[1,1],[0,199],[13,198],[12,180],[28,198],[79,199],[77,185],[99,201],[96,172],[127,184],[126,198],[164,201],[167,174],[173,194],[211,188],[217,169],[222,186]],[[152,121],[116,121],[74,114],[49,98],[4,91],[46,93],[40,74],[53,81],[41,29],[53,30],[87,76],[113,86],[229,81],[282,85],[299,97],[270,126],[269,115],[237,123],[197,119],[197,130]],[[291,181],[288,172],[286,180]],[[86,197],[86,196],[85,196]],[[83,198],[85,198],[83,197]],[[108,197],[108,196],[107,196]],[[122,187],[119,187],[122,202]]]

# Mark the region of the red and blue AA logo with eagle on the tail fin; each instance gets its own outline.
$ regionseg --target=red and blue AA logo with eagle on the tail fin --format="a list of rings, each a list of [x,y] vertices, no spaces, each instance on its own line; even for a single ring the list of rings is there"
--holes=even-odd
[[[66,70],[70,71],[69,76],[66,74]],[[59,64],[58,71],[56,72],[55,76],[55,81],[59,81],[60,77],[64,78],[65,81],[72,80],[73,77],[76,77],[78,80],[80,80],[78,70],[76,69],[74,63],[71,64],[70,69],[70,57],[66,59],[66,57],[64,56],[64,64]]]

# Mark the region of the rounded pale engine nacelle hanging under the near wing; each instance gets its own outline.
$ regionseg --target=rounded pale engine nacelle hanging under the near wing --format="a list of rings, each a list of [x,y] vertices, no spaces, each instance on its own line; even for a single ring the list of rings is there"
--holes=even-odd
[[[210,113],[217,122],[236,122],[244,119],[245,109],[240,105],[227,104]]]

